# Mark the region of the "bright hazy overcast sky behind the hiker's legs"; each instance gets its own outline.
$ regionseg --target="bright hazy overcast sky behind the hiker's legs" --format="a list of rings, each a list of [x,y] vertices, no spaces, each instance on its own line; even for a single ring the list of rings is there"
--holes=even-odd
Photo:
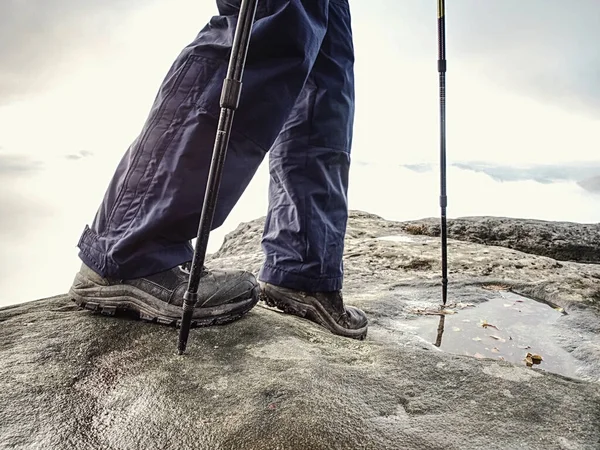
[[[350,6],[350,206],[437,215],[437,2]],[[0,305],[65,290],[81,229],[164,74],[215,13],[197,0],[0,3]],[[600,176],[597,23],[594,0],[446,2],[450,217],[600,221],[599,194],[578,184]],[[267,181],[263,166],[212,250],[264,215]]]

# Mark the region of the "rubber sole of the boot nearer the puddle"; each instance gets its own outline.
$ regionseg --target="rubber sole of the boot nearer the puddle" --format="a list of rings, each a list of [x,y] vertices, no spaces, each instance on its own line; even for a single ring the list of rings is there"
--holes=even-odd
[[[355,330],[341,327],[318,301],[310,297],[306,298],[306,303],[299,302],[290,298],[285,293],[279,292],[277,289],[263,285],[260,299],[272,308],[277,308],[286,314],[292,314],[315,322],[338,336],[358,340],[363,340],[367,336],[368,326]]]

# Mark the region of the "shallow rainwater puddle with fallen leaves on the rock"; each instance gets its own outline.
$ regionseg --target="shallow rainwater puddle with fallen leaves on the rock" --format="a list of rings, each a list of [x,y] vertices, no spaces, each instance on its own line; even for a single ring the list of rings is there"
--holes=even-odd
[[[526,365],[526,355],[531,353],[543,358],[535,368],[576,377],[579,361],[557,342],[555,325],[564,314],[511,292],[496,294],[475,306],[452,308],[455,314],[419,316],[410,326],[417,335],[449,353],[519,365]],[[482,326],[484,323],[488,326]]]

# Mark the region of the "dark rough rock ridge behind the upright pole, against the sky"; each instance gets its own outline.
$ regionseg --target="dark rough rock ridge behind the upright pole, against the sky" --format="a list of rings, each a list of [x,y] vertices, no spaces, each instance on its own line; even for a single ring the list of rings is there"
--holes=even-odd
[[[448,219],[448,237],[486,245],[499,245],[559,261],[600,263],[600,224],[549,222],[506,217]],[[402,222],[410,234],[439,236],[440,220]]]

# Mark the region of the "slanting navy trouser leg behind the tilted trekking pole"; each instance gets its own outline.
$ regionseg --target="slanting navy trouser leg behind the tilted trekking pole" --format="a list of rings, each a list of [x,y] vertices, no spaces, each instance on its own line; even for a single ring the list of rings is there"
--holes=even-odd
[[[191,260],[240,0],[217,5],[219,15],[170,68],[92,225],[84,228],[79,256],[102,276],[140,277]],[[213,228],[275,141],[326,32],[328,0],[258,5]]]

